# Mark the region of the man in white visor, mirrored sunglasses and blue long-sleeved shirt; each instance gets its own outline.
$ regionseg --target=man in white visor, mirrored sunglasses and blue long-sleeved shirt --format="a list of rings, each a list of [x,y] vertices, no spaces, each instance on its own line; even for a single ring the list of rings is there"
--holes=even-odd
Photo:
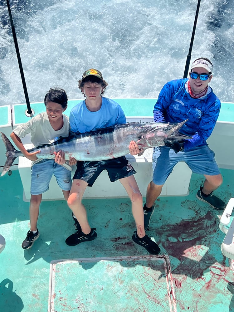
[[[213,191],[222,184],[222,175],[214,159],[214,152],[206,140],[211,135],[220,111],[220,100],[208,86],[212,79],[213,65],[207,58],[192,63],[189,79],[177,79],[166,83],[154,105],[155,122],[181,122],[188,119],[180,132],[192,139],[183,143],[165,140],[165,146],[154,148],[153,180],[149,183],[144,205],[144,226],[149,227],[154,212],[154,202],[162,191],[174,166],[185,161],[194,173],[205,177],[197,198],[217,210],[225,209],[225,203]],[[137,148],[138,149],[138,148]],[[139,149],[137,150],[139,152]],[[133,150],[131,154],[136,154]]]

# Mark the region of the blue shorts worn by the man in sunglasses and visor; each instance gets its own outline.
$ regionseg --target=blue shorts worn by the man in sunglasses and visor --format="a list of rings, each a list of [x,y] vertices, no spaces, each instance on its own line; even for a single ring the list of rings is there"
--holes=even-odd
[[[152,159],[153,182],[156,185],[163,185],[179,161],[187,163],[188,167],[194,173],[207,175],[220,174],[214,156],[214,152],[208,145],[195,147],[189,151],[178,152],[177,154],[167,146],[155,147]]]

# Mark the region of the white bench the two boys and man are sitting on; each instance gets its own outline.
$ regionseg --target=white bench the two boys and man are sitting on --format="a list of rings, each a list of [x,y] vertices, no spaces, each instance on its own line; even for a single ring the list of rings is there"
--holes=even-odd
[[[152,180],[152,149],[147,149],[145,153],[138,157],[130,154],[126,158],[132,163],[136,174],[137,184],[143,197],[146,196],[146,190],[149,182]],[[19,173],[23,184],[23,200],[30,201],[31,186],[31,161],[25,157],[19,158]],[[72,177],[75,173],[76,166],[72,167]],[[185,162],[179,162],[172,173],[169,175],[166,183],[163,185],[160,196],[186,196],[189,194],[188,187],[192,175],[191,169]],[[104,170],[95,181],[92,187],[87,187],[84,198],[124,198],[128,197],[127,192],[119,181],[110,182],[107,171]],[[49,190],[42,194],[42,200],[62,200],[63,193],[57,185],[54,176],[51,178]]]

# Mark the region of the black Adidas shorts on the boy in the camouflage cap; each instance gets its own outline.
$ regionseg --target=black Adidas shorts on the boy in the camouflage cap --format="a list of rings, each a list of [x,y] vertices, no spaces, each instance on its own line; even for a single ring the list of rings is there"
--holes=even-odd
[[[103,170],[108,172],[110,182],[115,182],[136,173],[133,165],[125,156],[122,156],[100,161],[78,161],[73,180],[83,180],[88,183],[88,186],[92,186]]]

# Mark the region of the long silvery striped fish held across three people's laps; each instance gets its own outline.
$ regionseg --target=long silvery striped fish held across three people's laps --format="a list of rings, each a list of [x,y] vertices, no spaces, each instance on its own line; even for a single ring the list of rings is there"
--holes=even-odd
[[[164,139],[184,140],[190,138],[178,133],[187,120],[178,124],[157,122],[118,124],[83,134],[72,134],[66,138],[60,138],[54,143],[44,144],[27,151],[32,153],[40,150],[41,153],[37,154],[37,158],[52,159],[55,158],[54,152],[62,150],[66,160],[73,156],[77,160],[99,161],[128,154],[129,142],[133,140],[143,150],[140,154],[143,154],[145,149],[164,145]],[[1,135],[7,149],[7,160],[1,174],[3,176],[13,161],[24,155],[14,148],[4,133],[1,132]]]

